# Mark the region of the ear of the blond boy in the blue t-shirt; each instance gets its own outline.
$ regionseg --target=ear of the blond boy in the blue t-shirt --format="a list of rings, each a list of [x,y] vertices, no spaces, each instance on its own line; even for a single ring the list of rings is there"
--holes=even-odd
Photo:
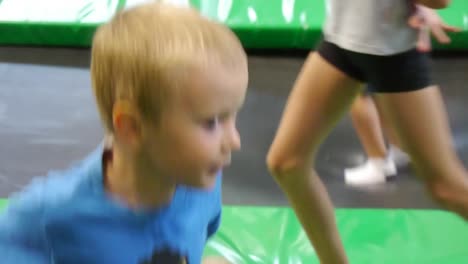
[[[135,149],[141,141],[138,111],[126,101],[117,101],[112,111],[115,140]]]

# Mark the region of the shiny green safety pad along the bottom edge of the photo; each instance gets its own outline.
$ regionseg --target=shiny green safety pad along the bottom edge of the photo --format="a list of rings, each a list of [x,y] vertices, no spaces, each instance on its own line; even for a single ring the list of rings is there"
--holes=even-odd
[[[336,217],[351,263],[468,263],[468,225],[451,213],[338,209]],[[205,255],[235,264],[319,263],[289,208],[225,206]]]

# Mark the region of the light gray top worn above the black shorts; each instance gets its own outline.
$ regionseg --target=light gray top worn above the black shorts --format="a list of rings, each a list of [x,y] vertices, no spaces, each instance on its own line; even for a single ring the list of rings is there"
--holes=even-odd
[[[315,0],[311,0],[315,1]],[[410,0],[326,0],[325,40],[350,51],[392,55],[415,47]]]

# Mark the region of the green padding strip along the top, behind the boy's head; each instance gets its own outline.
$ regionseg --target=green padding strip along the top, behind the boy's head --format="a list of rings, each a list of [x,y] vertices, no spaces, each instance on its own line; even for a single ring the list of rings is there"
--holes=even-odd
[[[0,44],[89,46],[117,10],[149,0],[3,0]],[[321,35],[324,0],[172,0],[190,3],[231,27],[247,48],[311,48]],[[468,1],[440,14],[464,29],[444,49],[468,49]],[[436,48],[440,48],[436,45]]]

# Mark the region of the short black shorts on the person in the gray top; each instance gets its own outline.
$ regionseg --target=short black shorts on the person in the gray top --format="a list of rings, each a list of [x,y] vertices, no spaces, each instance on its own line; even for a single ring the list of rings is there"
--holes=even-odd
[[[366,93],[398,93],[432,85],[427,54],[412,49],[390,56],[353,52],[322,41],[317,52],[340,71],[367,83]]]

